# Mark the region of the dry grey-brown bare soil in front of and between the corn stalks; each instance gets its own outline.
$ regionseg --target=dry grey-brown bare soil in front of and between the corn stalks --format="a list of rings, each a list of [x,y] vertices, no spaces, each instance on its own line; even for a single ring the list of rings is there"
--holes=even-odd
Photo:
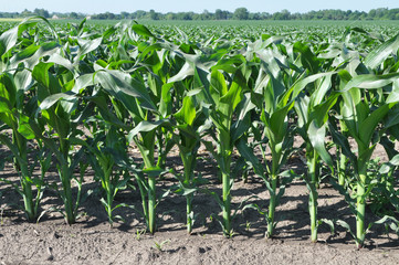
[[[2,149],[3,151],[4,149]],[[376,156],[384,157],[384,151]],[[168,160],[169,167],[181,167],[177,153]],[[210,180],[210,189],[220,192],[217,165],[207,155],[198,165],[203,177]],[[305,170],[300,158],[292,158],[286,168],[297,172]],[[18,182],[10,163],[0,172],[2,178]],[[55,172],[49,179],[56,180]],[[175,180],[166,176],[158,183],[159,194]],[[39,223],[27,223],[22,211],[10,205],[22,204],[13,190],[0,183],[1,225],[0,264],[399,264],[399,240],[381,226],[372,226],[367,235],[366,246],[356,250],[350,234],[336,227],[332,234],[329,226],[319,226],[318,243],[309,241],[308,191],[304,181],[294,180],[285,191],[277,208],[274,239],[266,240],[266,223],[258,211],[239,210],[233,221],[234,236],[225,239],[221,227],[211,214],[219,213],[216,200],[206,194],[197,194],[193,210],[198,214],[191,235],[186,232],[186,200],[169,194],[158,205],[158,231],[155,235],[145,233],[143,218],[132,209],[118,209],[116,214],[125,223],[113,227],[99,202],[99,194],[93,193],[82,203],[82,216],[76,224],[66,225],[59,212],[49,212]],[[83,190],[95,189],[97,184],[88,176]],[[269,193],[262,180],[249,177],[248,182],[238,178],[233,186],[233,208],[256,203],[263,210],[269,204]],[[140,208],[138,190],[119,192],[116,202],[125,202]],[[60,199],[52,190],[46,190],[43,205],[59,206]],[[328,183],[319,189],[318,218],[340,219],[355,227],[355,218],[346,202]],[[368,222],[377,220],[370,211]]]

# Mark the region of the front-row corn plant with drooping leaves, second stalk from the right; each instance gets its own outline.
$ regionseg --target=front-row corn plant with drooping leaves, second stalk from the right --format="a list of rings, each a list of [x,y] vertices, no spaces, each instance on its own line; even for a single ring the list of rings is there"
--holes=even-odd
[[[311,47],[302,42],[295,42],[293,51],[298,54],[296,65],[305,73],[319,78],[308,84],[295,99],[295,112],[297,117],[296,131],[304,139],[307,172],[304,174],[309,191],[308,211],[311,216],[311,241],[317,242],[317,189],[321,182],[322,159],[333,170],[333,160],[325,148],[325,137],[328,121],[328,112],[337,102],[337,93],[330,93],[332,75],[334,72],[326,72],[321,66],[321,59],[317,57]],[[312,76],[312,75],[311,75]],[[297,92],[295,92],[296,94]]]

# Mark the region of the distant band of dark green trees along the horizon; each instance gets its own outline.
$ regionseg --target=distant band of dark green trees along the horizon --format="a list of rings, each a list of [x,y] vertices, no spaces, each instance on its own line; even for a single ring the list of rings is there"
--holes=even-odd
[[[49,12],[45,9],[34,9],[33,11],[24,10],[19,12],[0,12],[0,18],[25,18],[31,15],[41,15],[44,18],[60,18],[60,19],[83,19],[91,17],[97,20],[399,20],[399,8],[388,9],[378,8],[371,9],[369,12],[351,11],[339,9],[326,9],[318,11],[309,11],[305,13],[291,13],[284,9],[275,13],[269,12],[250,12],[246,8],[238,8],[234,12],[228,10],[217,9],[214,12],[203,10],[202,13],[196,12],[168,12],[160,13],[155,10],[144,11],[137,10],[135,12],[120,13],[98,13],[85,14],[77,12],[60,13]]]

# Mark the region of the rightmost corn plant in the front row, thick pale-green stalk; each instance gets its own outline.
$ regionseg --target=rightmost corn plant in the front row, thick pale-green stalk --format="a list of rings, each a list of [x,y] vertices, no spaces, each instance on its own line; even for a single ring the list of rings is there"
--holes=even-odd
[[[398,103],[398,86],[393,83],[392,92],[387,98],[379,97],[378,105],[371,105],[369,97],[365,94],[367,89],[379,89],[382,92],[384,86],[390,85],[398,74],[388,75],[358,75],[350,76],[345,70],[339,73],[345,87],[342,91],[343,105],[340,115],[343,123],[347,127],[347,132],[357,144],[355,153],[347,138],[338,134],[333,127],[333,139],[342,147],[343,152],[349,158],[355,178],[356,186],[353,187],[353,193],[356,197],[356,245],[363,247],[365,243],[366,229],[366,201],[372,189],[372,176],[367,173],[370,157],[380,140],[382,134],[391,126],[399,123],[398,116],[393,116],[389,123],[382,124],[384,118],[389,115],[391,108]],[[381,95],[381,94],[380,94]],[[348,187],[351,188],[350,186]]]

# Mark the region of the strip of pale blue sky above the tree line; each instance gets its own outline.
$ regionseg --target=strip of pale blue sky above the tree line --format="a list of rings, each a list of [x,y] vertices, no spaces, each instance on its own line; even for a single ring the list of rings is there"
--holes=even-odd
[[[50,12],[82,12],[102,13],[120,11],[134,12],[136,10],[154,9],[158,12],[195,11],[202,12],[207,9],[234,11],[244,7],[251,12],[277,12],[287,9],[290,12],[307,12],[322,9],[342,9],[369,11],[376,8],[399,8],[398,0],[0,0],[0,11],[21,12],[24,9],[33,10],[43,8]]]

